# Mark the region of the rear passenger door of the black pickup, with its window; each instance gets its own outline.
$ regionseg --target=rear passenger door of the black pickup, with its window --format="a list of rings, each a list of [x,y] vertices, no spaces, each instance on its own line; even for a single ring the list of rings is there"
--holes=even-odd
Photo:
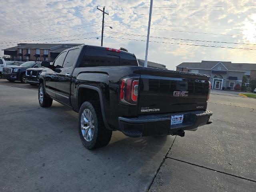
[[[76,64],[79,48],[68,51],[62,68],[56,71],[56,98],[70,106],[71,75]]]

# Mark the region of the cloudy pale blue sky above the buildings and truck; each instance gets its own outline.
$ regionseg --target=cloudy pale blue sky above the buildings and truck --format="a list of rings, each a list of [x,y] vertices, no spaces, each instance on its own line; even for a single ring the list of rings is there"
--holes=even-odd
[[[150,1],[141,0],[2,1],[0,50],[22,42],[100,46],[97,6],[109,13],[103,46],[144,59]],[[154,0],[148,61],[174,70],[201,60],[256,63],[255,0]]]

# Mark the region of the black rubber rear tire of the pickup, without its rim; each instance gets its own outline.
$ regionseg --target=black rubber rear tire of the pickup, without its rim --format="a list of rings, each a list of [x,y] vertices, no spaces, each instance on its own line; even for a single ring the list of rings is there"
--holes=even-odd
[[[81,118],[84,110],[89,109],[94,120],[94,134],[91,141],[86,141],[82,134]],[[112,130],[108,130],[102,119],[100,101],[84,102],[79,110],[78,132],[82,144],[89,150],[108,145],[112,136]]]

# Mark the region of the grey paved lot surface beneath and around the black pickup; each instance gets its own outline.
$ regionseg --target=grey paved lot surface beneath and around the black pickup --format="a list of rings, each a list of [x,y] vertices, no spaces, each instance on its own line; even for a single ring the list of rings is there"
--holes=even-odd
[[[0,79],[0,191],[256,191],[256,99],[211,94],[210,125],[185,137],[86,150],[78,114],[40,108],[37,87]]]

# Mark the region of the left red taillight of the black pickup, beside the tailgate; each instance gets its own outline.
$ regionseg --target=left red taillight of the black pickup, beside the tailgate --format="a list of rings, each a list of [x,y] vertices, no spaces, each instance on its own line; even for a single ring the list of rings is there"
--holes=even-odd
[[[119,99],[123,104],[136,105],[138,99],[139,78],[123,78],[120,81]]]

